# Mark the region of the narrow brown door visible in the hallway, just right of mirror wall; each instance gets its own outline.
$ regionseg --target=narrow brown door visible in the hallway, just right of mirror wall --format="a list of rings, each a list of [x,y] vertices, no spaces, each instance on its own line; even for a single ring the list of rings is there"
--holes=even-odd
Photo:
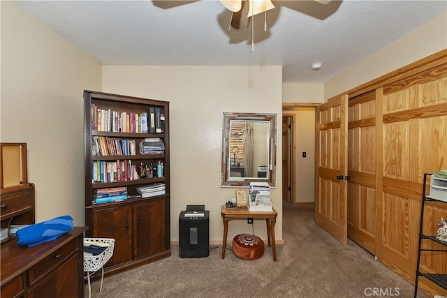
[[[282,117],[282,199],[293,203],[291,197],[291,116]]]

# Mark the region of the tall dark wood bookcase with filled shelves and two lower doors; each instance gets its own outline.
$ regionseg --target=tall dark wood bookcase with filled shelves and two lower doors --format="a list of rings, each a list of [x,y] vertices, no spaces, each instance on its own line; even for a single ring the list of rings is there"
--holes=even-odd
[[[169,102],[87,90],[84,100],[86,237],[117,244],[105,276],[170,256]],[[147,151],[147,139],[159,140],[164,147],[156,151],[164,153],[140,154],[140,147]],[[158,183],[165,185],[163,195],[132,198],[138,187]],[[98,191],[121,187],[127,200],[94,203]]]

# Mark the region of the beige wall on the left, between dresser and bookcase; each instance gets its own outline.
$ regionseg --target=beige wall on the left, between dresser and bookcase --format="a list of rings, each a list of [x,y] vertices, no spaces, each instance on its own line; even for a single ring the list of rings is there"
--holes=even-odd
[[[101,65],[12,1],[1,1],[1,142],[28,143],[36,221],[84,225],[83,89]]]

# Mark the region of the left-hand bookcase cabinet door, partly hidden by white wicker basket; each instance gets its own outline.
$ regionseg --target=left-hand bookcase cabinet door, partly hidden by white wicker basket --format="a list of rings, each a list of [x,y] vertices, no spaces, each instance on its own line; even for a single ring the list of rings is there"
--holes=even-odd
[[[132,260],[132,207],[93,212],[93,237],[115,239],[115,251],[105,268]]]

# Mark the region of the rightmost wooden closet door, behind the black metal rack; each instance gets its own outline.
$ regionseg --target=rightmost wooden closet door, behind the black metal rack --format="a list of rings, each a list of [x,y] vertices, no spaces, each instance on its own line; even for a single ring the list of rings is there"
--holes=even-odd
[[[446,76],[444,64],[377,89],[383,97],[377,257],[411,283],[416,271],[423,173],[447,169]],[[426,208],[424,233],[436,234],[435,223],[446,216],[446,206],[430,203]],[[424,242],[425,247],[429,245],[442,249]],[[421,264],[425,271],[446,273],[447,254],[423,253]],[[425,283],[421,288],[437,288],[424,279],[420,278]],[[437,292],[441,293],[446,291]]]

